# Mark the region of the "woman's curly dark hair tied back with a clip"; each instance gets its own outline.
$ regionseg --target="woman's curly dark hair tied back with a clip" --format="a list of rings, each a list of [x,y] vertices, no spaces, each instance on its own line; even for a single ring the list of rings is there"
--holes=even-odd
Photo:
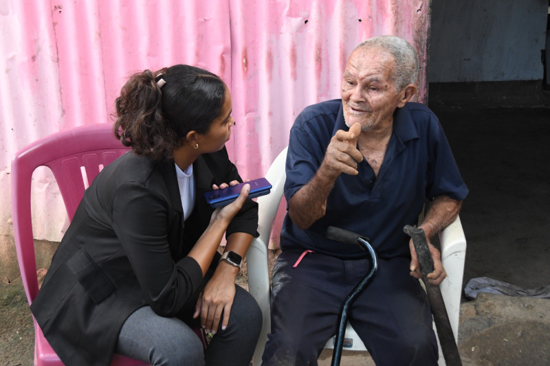
[[[161,78],[166,83],[159,87]],[[188,132],[208,132],[224,100],[223,80],[198,67],[175,65],[135,73],[115,101],[115,137],[137,155],[168,159]]]

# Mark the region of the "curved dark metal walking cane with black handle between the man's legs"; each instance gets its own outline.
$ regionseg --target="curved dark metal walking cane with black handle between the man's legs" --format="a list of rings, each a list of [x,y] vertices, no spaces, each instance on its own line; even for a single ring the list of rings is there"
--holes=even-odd
[[[340,360],[342,359],[344,334],[346,332],[346,325],[348,322],[348,310],[351,307],[351,304],[353,303],[355,298],[358,297],[360,293],[362,293],[362,291],[366,288],[366,286],[369,285],[369,283],[371,283],[371,279],[373,278],[373,275],[376,273],[376,270],[378,268],[378,258],[373,247],[371,247],[371,244],[369,243],[369,238],[360,236],[358,233],[353,233],[352,231],[329,226],[327,228],[327,238],[346,244],[358,245],[361,249],[363,249],[364,251],[368,251],[371,254],[371,271],[369,271],[369,273],[367,273],[367,275],[363,277],[361,282],[357,286],[355,286],[355,288],[353,288],[351,293],[349,293],[346,301],[344,301],[344,304],[342,305],[342,310],[338,315],[338,328],[336,330],[336,339],[334,341],[334,352],[332,354],[331,366],[339,366]]]

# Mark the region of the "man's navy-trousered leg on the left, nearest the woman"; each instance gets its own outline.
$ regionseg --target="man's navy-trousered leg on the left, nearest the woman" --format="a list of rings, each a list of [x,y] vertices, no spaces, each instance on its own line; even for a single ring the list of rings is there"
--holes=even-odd
[[[338,313],[347,292],[342,291],[341,260],[283,251],[277,258],[272,286],[272,329],[263,365],[317,365],[327,340],[336,332]]]

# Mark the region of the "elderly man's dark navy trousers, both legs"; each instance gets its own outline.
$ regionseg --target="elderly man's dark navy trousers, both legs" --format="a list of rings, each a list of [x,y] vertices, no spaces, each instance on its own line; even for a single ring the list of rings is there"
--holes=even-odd
[[[283,251],[274,266],[272,329],[263,365],[317,365],[336,334],[347,295],[369,273],[369,260]],[[432,314],[410,259],[380,260],[378,271],[349,310],[349,322],[376,365],[437,365]]]

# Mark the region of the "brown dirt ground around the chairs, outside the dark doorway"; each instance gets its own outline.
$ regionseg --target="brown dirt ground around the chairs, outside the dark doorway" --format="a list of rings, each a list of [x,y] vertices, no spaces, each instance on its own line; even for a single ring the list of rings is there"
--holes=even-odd
[[[274,255],[271,255],[274,258]],[[246,287],[246,277],[238,279]],[[21,280],[0,284],[0,366],[30,366],[34,328]],[[464,366],[547,366],[550,300],[481,293],[461,305],[459,352]],[[331,364],[325,350],[319,366]],[[341,366],[374,366],[366,352],[344,351]]]

